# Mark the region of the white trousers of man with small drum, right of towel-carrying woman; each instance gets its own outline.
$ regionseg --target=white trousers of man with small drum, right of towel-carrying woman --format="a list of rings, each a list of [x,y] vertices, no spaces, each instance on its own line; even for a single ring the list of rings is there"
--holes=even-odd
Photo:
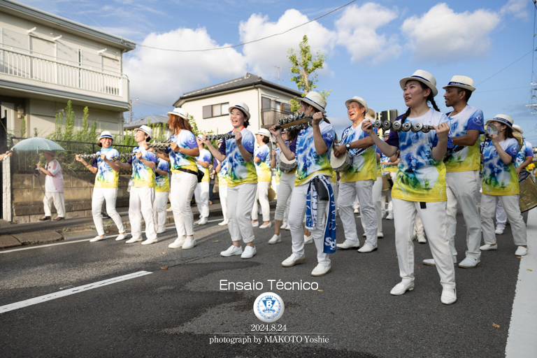
[[[360,220],[365,222],[366,243],[377,245],[377,214],[373,204],[373,180],[359,180],[357,182],[340,182],[339,186],[339,217],[343,223],[345,240],[358,242],[356,220],[352,202],[358,196],[360,203]]]

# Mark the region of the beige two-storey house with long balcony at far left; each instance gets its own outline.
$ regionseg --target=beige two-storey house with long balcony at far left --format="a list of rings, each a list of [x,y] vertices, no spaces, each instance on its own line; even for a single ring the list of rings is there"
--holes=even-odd
[[[129,110],[122,55],[135,43],[43,10],[0,0],[0,96],[7,129],[44,136],[71,100],[81,122],[85,106],[99,130],[121,132]],[[80,122],[76,123],[79,124]]]

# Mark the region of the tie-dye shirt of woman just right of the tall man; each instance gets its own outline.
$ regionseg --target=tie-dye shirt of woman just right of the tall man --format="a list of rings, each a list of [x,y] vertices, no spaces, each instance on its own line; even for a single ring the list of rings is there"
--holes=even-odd
[[[503,163],[492,141],[486,141],[483,149],[482,193],[486,195],[519,194],[518,174],[515,160],[518,153],[518,142],[515,138],[507,138],[499,142],[501,149],[513,157],[509,164]]]

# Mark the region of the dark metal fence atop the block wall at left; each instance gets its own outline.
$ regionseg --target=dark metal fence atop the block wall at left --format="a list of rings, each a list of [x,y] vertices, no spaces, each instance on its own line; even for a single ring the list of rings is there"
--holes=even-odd
[[[11,137],[10,147],[13,147],[13,145],[24,139],[26,138]],[[60,166],[62,166],[62,171],[64,173],[89,173],[82,163],[76,161],[75,156],[78,154],[93,154],[98,150],[101,150],[101,147],[99,147],[97,143],[73,141],[55,142],[59,145],[62,145],[62,148],[65,149],[65,151],[56,152],[56,159],[58,160]],[[135,148],[134,145],[113,145],[112,147],[120,152],[120,154],[132,152],[132,150]],[[85,160],[91,164],[93,159]],[[41,164],[44,164],[43,154],[41,151],[14,152],[11,160],[11,171],[12,173],[36,173],[36,164],[40,161]],[[127,162],[127,159],[122,159],[122,162]],[[124,171],[124,169],[121,169],[120,173],[127,174],[129,171]]]

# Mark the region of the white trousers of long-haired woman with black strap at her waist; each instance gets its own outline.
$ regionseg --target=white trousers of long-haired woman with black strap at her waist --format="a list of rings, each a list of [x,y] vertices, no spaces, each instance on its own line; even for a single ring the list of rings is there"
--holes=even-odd
[[[194,217],[190,201],[197,185],[198,177],[193,174],[183,171],[171,173],[170,203],[178,238],[194,235]]]

